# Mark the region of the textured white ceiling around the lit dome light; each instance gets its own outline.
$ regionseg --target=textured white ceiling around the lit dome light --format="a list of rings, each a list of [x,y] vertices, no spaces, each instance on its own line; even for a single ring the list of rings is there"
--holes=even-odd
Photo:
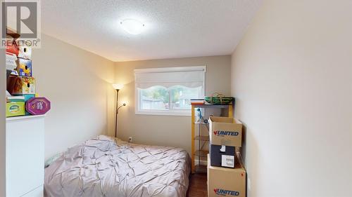
[[[42,32],[113,61],[227,55],[261,0],[43,0]],[[120,21],[146,25],[130,35]]]

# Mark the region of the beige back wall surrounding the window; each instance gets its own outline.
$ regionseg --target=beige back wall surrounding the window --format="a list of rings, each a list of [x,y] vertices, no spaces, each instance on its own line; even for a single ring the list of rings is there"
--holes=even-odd
[[[118,115],[118,137],[134,142],[182,147],[191,151],[190,116],[151,116],[134,114],[134,69],[206,65],[206,95],[215,91],[230,94],[230,55],[187,57],[165,60],[115,62],[115,82],[125,84],[119,102],[127,101]]]

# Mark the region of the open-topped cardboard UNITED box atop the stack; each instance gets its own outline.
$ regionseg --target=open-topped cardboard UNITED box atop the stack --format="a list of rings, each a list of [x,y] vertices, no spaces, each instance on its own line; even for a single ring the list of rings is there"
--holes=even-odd
[[[209,117],[210,144],[241,147],[242,123],[235,118]]]

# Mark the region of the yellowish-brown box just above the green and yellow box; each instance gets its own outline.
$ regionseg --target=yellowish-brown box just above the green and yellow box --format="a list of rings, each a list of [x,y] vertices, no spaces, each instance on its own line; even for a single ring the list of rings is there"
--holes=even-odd
[[[12,95],[35,94],[35,79],[32,76],[20,76],[15,81],[13,90],[8,91]]]

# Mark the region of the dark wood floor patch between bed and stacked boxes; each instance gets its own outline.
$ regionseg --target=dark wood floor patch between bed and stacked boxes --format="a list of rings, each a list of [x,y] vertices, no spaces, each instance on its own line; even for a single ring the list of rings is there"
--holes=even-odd
[[[192,174],[189,177],[187,197],[207,197],[206,174]]]

